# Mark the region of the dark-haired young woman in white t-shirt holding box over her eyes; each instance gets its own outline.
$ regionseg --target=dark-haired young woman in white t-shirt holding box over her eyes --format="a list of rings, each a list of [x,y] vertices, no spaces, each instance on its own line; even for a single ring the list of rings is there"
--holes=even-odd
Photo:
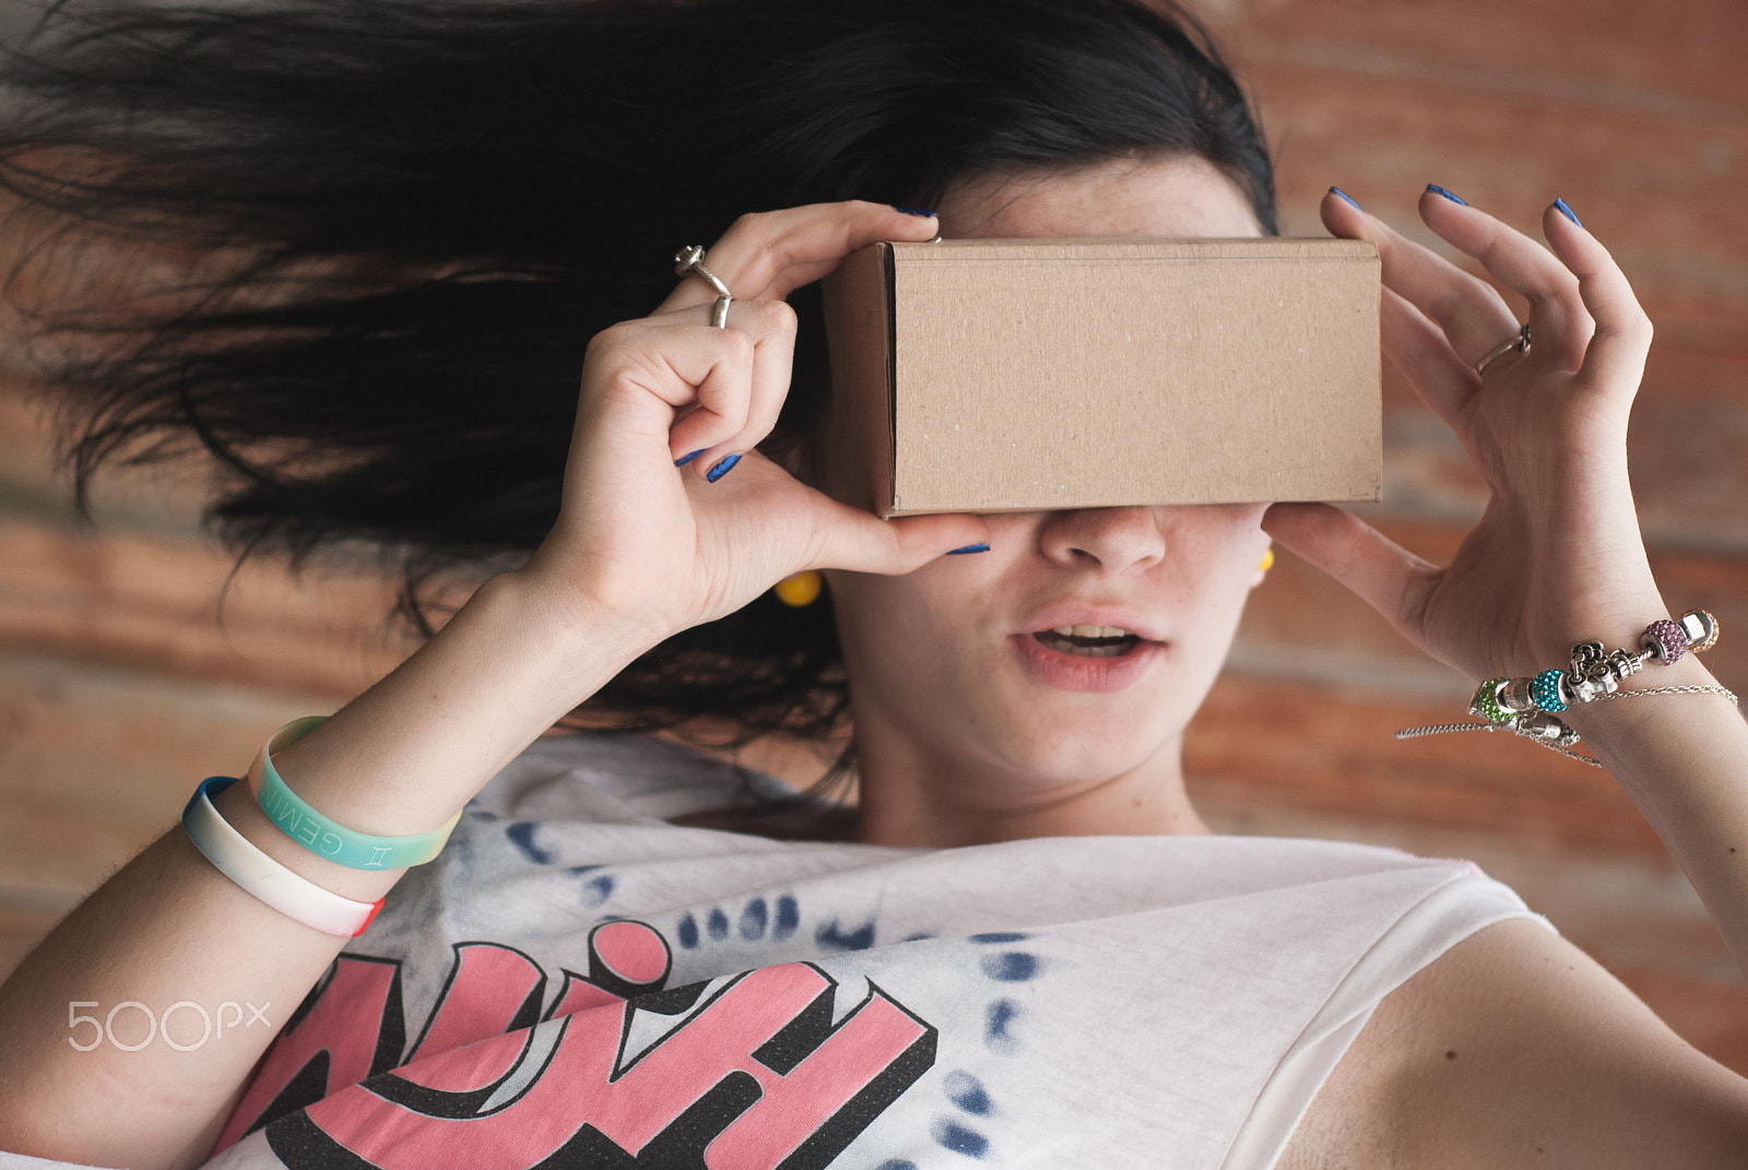
[[[9,177],[87,234],[185,248],[210,294],[124,304],[136,348],[101,332],[114,317],[63,332],[70,393],[94,395],[82,451],[194,434],[238,472],[218,518],[245,539],[393,539],[414,570],[523,554],[371,691],[203,787],[7,981],[7,1149],[1745,1165],[1748,1083],[1503,887],[1213,836],[1183,792],[1183,726],[1269,539],[1477,679],[1636,647],[1669,616],[1624,455],[1650,327],[1564,203],[1542,247],[1421,199],[1530,301],[1524,352],[1484,283],[1323,201],[1332,233],[1377,243],[1390,353],[1493,488],[1447,567],[1308,504],[879,521],[809,486],[832,453],[804,290],[844,255],[935,233],[1274,231],[1245,98],[1182,16],[93,19],[54,72],[21,75],[38,105]],[[696,273],[640,315],[652,238],[711,222],[724,327]],[[566,362],[582,388],[559,404]],[[547,498],[563,435],[544,423],[568,413]],[[825,602],[767,600],[806,570],[827,579],[823,633]],[[1692,691],[1566,717],[1748,957],[1748,728],[1692,656],[1654,682]],[[746,799],[771,782],[666,740],[537,742],[579,707],[750,731],[848,710],[848,839],[820,806],[780,838]],[[407,869],[421,834],[447,845]]]

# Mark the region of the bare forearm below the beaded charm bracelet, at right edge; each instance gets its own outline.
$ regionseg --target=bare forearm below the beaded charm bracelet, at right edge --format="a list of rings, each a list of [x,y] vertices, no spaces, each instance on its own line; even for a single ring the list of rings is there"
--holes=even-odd
[[[1717,686],[1692,654],[1627,689]],[[1748,722],[1722,694],[1647,694],[1563,712],[1694,883],[1748,972]]]

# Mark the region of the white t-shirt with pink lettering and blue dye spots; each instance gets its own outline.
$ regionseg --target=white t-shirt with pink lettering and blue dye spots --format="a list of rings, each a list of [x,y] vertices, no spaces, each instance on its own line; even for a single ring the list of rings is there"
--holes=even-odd
[[[748,783],[774,785],[643,736],[531,747],[285,1025],[208,1165],[1260,1170],[1379,999],[1535,918],[1468,862],[1332,841],[664,822]]]

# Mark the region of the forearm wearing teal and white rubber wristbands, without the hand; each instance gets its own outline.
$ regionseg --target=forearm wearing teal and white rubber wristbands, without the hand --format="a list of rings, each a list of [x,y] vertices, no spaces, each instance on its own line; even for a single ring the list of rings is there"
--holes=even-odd
[[[489,582],[400,670],[276,754],[309,804],[360,832],[400,836],[444,824],[528,742],[649,647],[643,631],[596,621],[572,633],[514,577]],[[191,789],[198,777],[191,777]],[[301,848],[243,785],[217,801],[259,848],[316,885],[381,897],[400,871],[358,871]],[[236,887],[173,829],[75,909],[0,986],[0,1133],[7,1147],[100,1165],[192,1165],[278,1027],[344,946]],[[91,1051],[93,1025],[121,1002],[161,1014],[177,1002],[217,1014],[260,1009],[178,1051]],[[227,1016],[229,1018],[229,1016]],[[199,1016],[177,1016],[178,1042]],[[138,1011],[115,1020],[138,1025]],[[180,1035],[180,1030],[192,1035]]]

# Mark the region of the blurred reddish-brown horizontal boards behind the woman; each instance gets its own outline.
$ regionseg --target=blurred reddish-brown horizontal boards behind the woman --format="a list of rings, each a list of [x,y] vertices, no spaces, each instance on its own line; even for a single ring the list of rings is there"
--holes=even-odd
[[[1288,234],[1321,234],[1332,182],[1398,226],[1437,182],[1531,229],[1564,196],[1613,248],[1657,324],[1631,449],[1659,581],[1671,605],[1718,614],[1711,666],[1748,689],[1748,7],[1199,10],[1260,94]],[[0,346],[0,971],[171,825],[199,777],[406,652],[369,577],[227,579],[196,530],[196,472],[112,481],[103,523],[75,523],[14,353]],[[1363,511],[1439,558],[1479,514],[1479,481],[1393,378],[1384,425],[1384,504]],[[1391,740],[1460,714],[1470,686],[1281,556],[1197,721],[1196,794],[1229,831],[1475,859],[1748,1074],[1748,981],[1606,775],[1509,736]]]

